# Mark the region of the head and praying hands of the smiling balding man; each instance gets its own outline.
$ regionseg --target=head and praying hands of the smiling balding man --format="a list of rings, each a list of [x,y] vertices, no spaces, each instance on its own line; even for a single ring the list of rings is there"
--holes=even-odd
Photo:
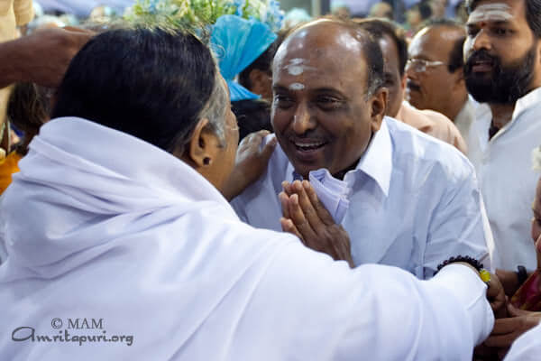
[[[310,23],[280,46],[273,70],[272,124],[289,162],[305,179],[282,184],[282,229],[350,266],[349,236],[306,179],[320,168],[343,178],[385,115],[388,91],[367,95],[368,68],[357,36],[333,21]],[[305,144],[317,145],[305,149]]]

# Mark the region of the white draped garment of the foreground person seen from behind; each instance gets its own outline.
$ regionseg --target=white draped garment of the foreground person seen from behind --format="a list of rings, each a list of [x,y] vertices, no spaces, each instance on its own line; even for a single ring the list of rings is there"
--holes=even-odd
[[[492,328],[466,267],[351,270],[101,125],[52,120],[20,166],[0,208],[1,360],[465,360]]]

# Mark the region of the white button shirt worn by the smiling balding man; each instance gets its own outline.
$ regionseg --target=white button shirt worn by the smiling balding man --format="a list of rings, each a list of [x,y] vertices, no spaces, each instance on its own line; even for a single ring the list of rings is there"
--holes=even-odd
[[[280,230],[283,180],[299,178],[277,145],[267,171],[232,205],[253,227]],[[473,167],[453,146],[385,117],[355,170],[342,225],[355,264],[390,264],[419,278],[454,255],[490,268]]]

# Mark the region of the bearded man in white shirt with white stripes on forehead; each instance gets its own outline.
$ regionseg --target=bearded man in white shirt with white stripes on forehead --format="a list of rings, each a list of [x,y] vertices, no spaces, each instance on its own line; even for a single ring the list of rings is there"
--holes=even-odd
[[[466,87],[491,107],[491,117],[472,125],[469,156],[501,258],[494,262],[505,270],[521,264],[533,270],[530,205],[538,174],[529,154],[541,137],[541,1],[473,0],[468,11]]]

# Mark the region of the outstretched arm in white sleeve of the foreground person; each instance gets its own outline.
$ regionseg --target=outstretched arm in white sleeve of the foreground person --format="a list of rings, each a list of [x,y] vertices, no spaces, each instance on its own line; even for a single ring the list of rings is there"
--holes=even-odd
[[[276,255],[244,310],[243,319],[255,323],[245,322],[238,335],[261,350],[265,338],[254,336],[252,327],[269,330],[282,353],[267,359],[471,359],[493,323],[486,286],[463,265],[447,267],[420,281],[379,264],[351,270],[290,244]]]

